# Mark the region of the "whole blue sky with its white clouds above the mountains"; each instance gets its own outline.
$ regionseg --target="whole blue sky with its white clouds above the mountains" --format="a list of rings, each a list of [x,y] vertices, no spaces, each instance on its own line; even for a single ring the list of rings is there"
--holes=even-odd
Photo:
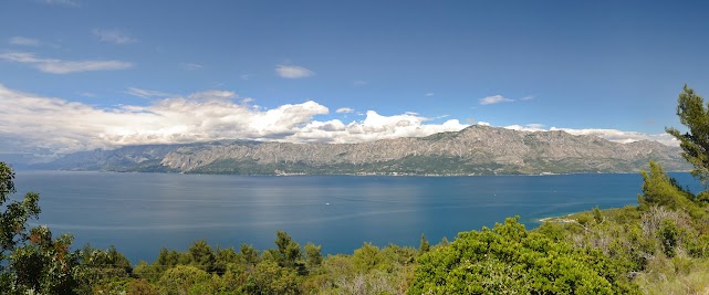
[[[706,1],[0,3],[0,157],[479,124],[672,145]]]

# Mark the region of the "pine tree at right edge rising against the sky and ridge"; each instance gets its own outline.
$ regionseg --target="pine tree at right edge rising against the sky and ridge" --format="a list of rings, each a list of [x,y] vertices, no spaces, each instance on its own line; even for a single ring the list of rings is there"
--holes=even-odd
[[[681,134],[672,127],[665,130],[679,140],[682,157],[695,167],[691,175],[706,185],[709,180],[709,109],[701,96],[687,85],[677,98],[677,116],[689,131]]]

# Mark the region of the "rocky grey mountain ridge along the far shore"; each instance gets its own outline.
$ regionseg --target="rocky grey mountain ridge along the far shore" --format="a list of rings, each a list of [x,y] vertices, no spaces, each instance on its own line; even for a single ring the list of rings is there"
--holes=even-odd
[[[127,146],[67,155],[43,168],[234,175],[539,175],[637,172],[650,159],[691,169],[678,147],[613,143],[565,131],[470,126],[420,138],[359,144],[222,140]]]

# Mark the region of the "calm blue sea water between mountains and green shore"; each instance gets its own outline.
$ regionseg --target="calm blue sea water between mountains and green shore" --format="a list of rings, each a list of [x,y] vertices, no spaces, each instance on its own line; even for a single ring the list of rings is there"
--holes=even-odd
[[[698,191],[688,173],[675,173]],[[160,247],[184,251],[197,240],[238,250],[275,247],[277,231],[322,244],[329,254],[372,242],[418,246],[520,215],[636,204],[643,179],[628,175],[382,177],[243,177],[178,173],[19,171],[18,192],[40,193],[39,224],[72,233],[75,247],[115,245],[133,263]],[[18,196],[19,197],[19,196]]]

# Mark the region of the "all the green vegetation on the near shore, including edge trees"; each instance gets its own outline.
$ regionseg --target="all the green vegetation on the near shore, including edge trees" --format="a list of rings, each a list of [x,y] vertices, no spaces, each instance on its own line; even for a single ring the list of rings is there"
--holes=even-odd
[[[685,88],[680,117],[689,102],[709,118],[696,97]],[[672,130],[705,179],[709,137],[699,135],[709,126]],[[431,245],[421,235],[418,249],[364,243],[352,255],[329,256],[278,232],[273,249],[197,241],[186,252],[163,249],[154,262],[132,265],[114,247],[71,251],[71,235],[28,229],[40,213],[39,196],[12,200],[14,173],[0,162],[0,293],[707,294],[709,193],[681,188],[654,161],[642,173],[637,207],[596,208],[532,231],[509,218],[452,242]]]

